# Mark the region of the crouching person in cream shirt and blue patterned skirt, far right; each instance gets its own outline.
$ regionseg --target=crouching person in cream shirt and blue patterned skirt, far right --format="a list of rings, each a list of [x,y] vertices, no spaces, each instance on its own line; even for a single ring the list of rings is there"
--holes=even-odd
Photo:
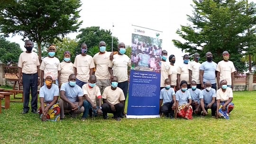
[[[233,91],[227,86],[227,81],[222,80],[219,82],[221,88],[216,92],[217,99],[217,115],[216,118],[224,117],[229,119],[229,113],[234,109]]]

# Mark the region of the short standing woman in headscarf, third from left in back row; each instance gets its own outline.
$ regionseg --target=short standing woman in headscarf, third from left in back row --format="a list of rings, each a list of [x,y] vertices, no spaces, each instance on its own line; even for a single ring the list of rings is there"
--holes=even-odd
[[[64,61],[60,63],[60,83],[63,84],[68,82],[68,77],[70,74],[74,73],[74,64],[70,61],[71,54],[69,51],[64,52]]]

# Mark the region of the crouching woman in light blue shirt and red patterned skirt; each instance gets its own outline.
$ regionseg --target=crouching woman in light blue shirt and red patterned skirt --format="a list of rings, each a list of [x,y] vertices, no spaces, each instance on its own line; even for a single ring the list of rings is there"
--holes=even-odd
[[[176,92],[176,111],[175,111],[175,118],[182,117],[186,119],[193,119],[192,117],[192,98],[190,95],[190,92],[187,90],[187,81],[181,81],[180,88],[181,90],[178,90]],[[189,100],[189,103],[188,103]]]

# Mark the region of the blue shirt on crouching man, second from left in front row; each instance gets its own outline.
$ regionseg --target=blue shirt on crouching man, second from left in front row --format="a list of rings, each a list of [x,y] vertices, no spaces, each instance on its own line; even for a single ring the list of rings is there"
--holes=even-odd
[[[65,82],[61,85],[61,90],[65,91],[65,96],[71,102],[76,102],[78,97],[83,96],[82,88],[80,88],[77,84],[74,87],[71,87],[69,82]]]

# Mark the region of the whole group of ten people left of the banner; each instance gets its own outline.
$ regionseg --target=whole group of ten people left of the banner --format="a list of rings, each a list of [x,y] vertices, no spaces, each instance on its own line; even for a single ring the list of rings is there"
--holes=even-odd
[[[59,121],[64,119],[65,113],[72,117],[83,113],[82,120],[98,115],[107,119],[108,113],[113,113],[118,121],[125,116],[131,60],[125,54],[124,43],[118,44],[118,52],[111,53],[101,41],[99,53],[93,57],[86,54],[87,45],[83,43],[81,54],[75,57],[74,63],[70,61],[69,51],[64,52],[64,61],[60,63],[55,57],[56,47],[51,45],[41,65],[38,55],[32,52],[30,40],[25,41],[25,48],[27,51],[20,54],[18,61],[19,85],[23,85],[24,91],[23,114],[29,111],[31,89],[31,112],[39,113],[42,121]],[[37,86],[40,83],[40,108],[37,111]]]

